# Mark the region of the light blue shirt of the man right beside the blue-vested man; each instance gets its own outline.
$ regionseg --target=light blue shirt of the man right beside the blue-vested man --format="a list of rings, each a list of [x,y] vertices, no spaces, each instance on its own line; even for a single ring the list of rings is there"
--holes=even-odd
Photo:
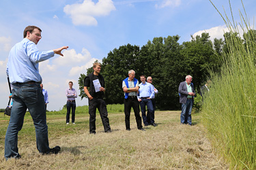
[[[155,92],[154,92],[154,87],[152,84],[145,82],[145,84],[143,84],[141,82],[141,84],[139,84],[139,98],[141,97],[150,97],[150,99],[153,99],[155,96]]]

